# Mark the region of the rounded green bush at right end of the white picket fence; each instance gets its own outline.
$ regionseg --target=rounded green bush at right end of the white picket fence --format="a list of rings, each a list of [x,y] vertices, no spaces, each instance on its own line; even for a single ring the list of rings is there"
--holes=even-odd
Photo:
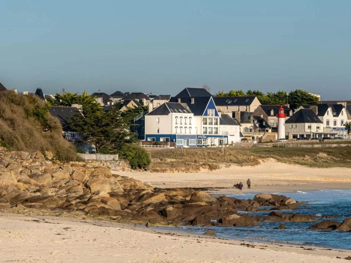
[[[120,155],[123,159],[128,160],[133,169],[146,168],[151,163],[147,151],[143,147],[135,144],[125,146]]]

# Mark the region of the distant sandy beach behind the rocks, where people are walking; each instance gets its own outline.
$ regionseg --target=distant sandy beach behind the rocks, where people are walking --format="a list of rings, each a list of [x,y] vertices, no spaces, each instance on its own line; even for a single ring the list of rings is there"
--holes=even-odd
[[[350,189],[350,168],[310,168],[275,161],[262,162],[259,166],[231,166],[217,171],[200,173],[113,173],[130,176],[159,188],[217,188],[208,189],[212,194],[238,193],[233,184],[243,182],[244,192],[289,193],[321,189]],[[251,189],[246,189],[250,178]]]

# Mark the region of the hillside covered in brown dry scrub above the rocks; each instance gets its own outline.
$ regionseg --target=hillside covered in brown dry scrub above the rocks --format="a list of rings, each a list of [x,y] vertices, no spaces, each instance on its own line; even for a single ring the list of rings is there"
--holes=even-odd
[[[0,92],[0,145],[12,150],[52,151],[54,158],[61,161],[77,159],[46,103],[35,95],[9,90]]]

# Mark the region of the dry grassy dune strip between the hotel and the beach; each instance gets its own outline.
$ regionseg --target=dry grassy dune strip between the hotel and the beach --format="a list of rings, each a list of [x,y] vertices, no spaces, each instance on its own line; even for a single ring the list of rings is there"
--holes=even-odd
[[[196,172],[200,169],[216,170],[220,166],[236,164],[254,166],[261,160],[273,158],[278,162],[310,167],[351,167],[351,148],[188,148],[150,151],[151,171]]]

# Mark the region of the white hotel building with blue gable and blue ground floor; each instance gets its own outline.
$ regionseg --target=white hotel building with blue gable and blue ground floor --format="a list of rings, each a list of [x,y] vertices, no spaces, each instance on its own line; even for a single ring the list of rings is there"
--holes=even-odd
[[[145,140],[176,142],[177,147],[207,147],[240,141],[240,124],[217,111],[203,88],[185,88],[145,115]]]

